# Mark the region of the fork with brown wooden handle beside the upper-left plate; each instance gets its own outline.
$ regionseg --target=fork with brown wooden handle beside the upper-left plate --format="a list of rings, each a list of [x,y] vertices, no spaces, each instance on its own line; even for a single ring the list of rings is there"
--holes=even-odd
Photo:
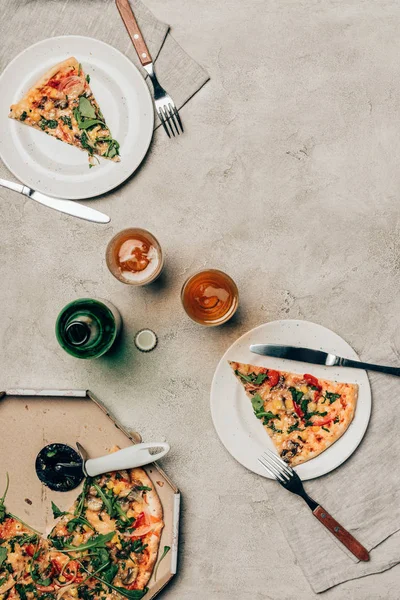
[[[160,117],[162,126],[164,127],[169,138],[171,137],[171,133],[175,137],[175,131],[178,135],[181,131],[183,133],[182,121],[176,109],[175,103],[171,96],[167,94],[167,92],[158,82],[154,71],[153,59],[151,58],[151,54],[147,48],[146,42],[144,41],[142,32],[140,31],[129,1],[115,0],[115,2],[129,36],[133,42],[139,60],[142,63],[143,68],[149,74],[154,89],[154,104],[156,106],[156,111]],[[172,124],[174,127],[172,127]]]

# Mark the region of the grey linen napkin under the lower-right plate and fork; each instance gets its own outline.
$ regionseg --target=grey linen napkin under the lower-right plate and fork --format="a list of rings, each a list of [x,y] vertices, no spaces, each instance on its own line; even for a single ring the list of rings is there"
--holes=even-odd
[[[398,356],[393,353],[380,362],[396,364]],[[370,382],[373,411],[361,445],[341,467],[304,484],[314,500],[372,550],[369,562],[358,562],[301,498],[275,482],[267,484],[279,524],[315,592],[400,562],[400,379],[370,372]]]

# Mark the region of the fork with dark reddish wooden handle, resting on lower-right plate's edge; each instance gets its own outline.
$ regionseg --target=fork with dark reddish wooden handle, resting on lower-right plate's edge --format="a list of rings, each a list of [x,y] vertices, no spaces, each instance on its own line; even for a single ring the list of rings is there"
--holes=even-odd
[[[279,456],[266,450],[258,459],[258,462],[264,467],[269,475],[275,479],[292,494],[303,498],[312,510],[314,517],[318,519],[346,548],[354,554],[359,560],[368,561],[369,553],[364,546],[358,542],[355,537],[346,531],[331,515],[315,500],[310,498],[303,487],[300,477],[292,467],[290,467]]]

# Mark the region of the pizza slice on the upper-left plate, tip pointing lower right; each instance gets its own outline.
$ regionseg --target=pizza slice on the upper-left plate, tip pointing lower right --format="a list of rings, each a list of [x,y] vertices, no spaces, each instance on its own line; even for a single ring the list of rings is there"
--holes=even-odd
[[[76,58],[49,69],[17,104],[9,117],[76,146],[89,154],[119,161],[119,144],[111,136],[100,107]]]

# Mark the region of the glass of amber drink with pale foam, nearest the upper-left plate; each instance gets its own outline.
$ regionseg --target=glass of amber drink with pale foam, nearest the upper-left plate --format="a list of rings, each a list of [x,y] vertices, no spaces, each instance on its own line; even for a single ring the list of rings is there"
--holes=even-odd
[[[129,285],[146,285],[161,273],[161,246],[149,231],[131,227],[117,233],[107,246],[106,262],[111,273]]]

